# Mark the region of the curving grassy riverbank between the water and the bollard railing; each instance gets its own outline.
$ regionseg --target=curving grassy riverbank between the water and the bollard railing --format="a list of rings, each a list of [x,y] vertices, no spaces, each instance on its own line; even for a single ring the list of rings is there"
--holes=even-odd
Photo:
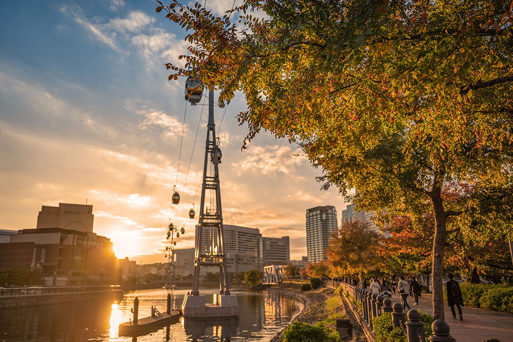
[[[317,290],[301,291],[301,284],[282,283],[274,285],[266,291],[280,292],[298,297],[303,301],[303,311],[293,321],[315,324],[323,321],[329,328],[336,328],[336,319],[348,318],[353,326],[354,342],[366,342],[367,339],[362,328],[352,315],[346,315],[346,303],[340,295],[333,293],[332,289],[321,287]],[[280,331],[271,342],[279,342],[283,339],[283,330]]]

